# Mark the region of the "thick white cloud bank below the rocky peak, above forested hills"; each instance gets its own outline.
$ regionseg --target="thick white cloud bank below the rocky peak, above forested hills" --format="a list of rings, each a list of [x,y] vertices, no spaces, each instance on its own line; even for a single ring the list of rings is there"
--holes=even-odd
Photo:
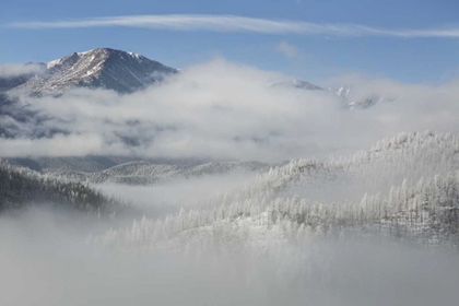
[[[74,90],[59,97],[21,97],[22,107],[40,119],[27,123],[2,116],[0,128],[15,137],[0,138],[0,155],[278,162],[351,154],[401,131],[459,131],[457,81],[439,86],[356,76],[327,81],[354,84],[350,98],[385,97],[370,108],[349,110],[328,91],[270,86],[283,78],[215,59],[130,95]]]

